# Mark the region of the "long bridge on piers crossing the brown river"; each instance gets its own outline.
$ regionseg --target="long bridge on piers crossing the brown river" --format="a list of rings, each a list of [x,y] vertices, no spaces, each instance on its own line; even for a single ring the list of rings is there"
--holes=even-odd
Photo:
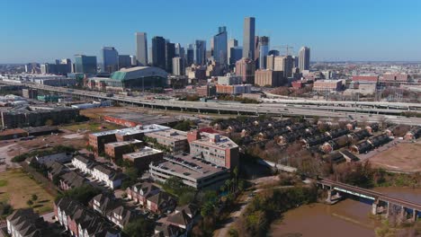
[[[334,204],[343,198],[343,195],[352,195],[372,201],[372,215],[385,215],[388,217],[391,211],[398,211],[402,220],[416,221],[421,211],[421,204],[402,198],[376,192],[370,189],[362,189],[353,185],[336,182],[333,180],[319,179],[318,187],[327,190],[327,203]]]

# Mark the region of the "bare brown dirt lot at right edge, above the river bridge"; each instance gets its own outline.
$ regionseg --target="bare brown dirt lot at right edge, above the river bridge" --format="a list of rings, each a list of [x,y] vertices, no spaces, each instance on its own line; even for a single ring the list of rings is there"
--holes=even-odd
[[[370,158],[374,167],[392,171],[421,171],[421,141],[402,142]]]

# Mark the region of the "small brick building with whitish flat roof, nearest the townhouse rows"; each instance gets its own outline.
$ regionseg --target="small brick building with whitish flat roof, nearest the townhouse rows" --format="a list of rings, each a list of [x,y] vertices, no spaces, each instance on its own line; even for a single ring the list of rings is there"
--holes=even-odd
[[[139,148],[135,153],[123,154],[122,159],[132,162],[134,167],[136,167],[139,171],[146,171],[148,170],[150,162],[160,162],[163,160],[163,156],[163,152],[144,146]]]

